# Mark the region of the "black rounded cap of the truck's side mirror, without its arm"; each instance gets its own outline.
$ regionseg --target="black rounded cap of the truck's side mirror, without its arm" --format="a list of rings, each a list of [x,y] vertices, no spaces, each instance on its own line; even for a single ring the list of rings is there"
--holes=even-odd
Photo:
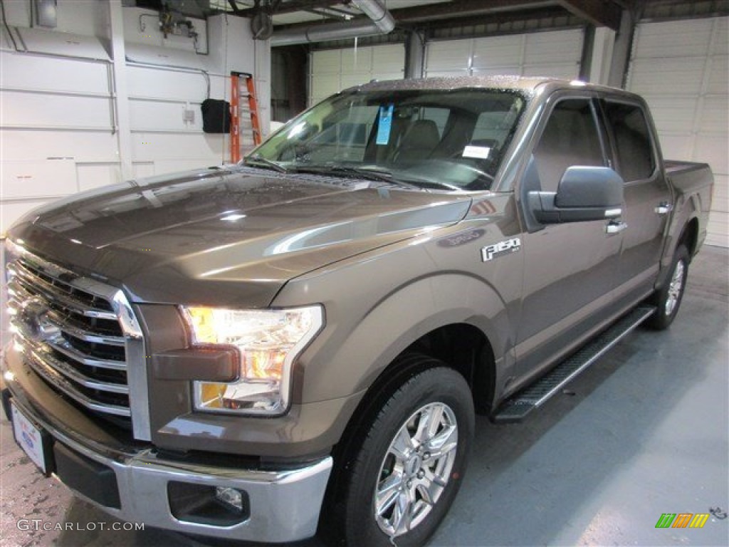
[[[554,204],[558,209],[619,209],[623,184],[609,167],[572,166],[564,171]]]

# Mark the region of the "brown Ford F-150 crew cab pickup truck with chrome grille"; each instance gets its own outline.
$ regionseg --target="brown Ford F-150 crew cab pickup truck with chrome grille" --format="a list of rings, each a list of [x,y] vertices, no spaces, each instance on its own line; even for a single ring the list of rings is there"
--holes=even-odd
[[[475,413],[523,419],[671,324],[711,187],[622,90],[351,88],[242,163],[17,222],[4,408],[43,473],[120,519],[420,545]]]

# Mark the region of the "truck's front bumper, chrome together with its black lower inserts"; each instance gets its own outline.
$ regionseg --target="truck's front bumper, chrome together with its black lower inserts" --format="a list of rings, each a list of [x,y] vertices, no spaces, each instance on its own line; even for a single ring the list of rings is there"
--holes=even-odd
[[[124,454],[106,453],[93,443],[71,438],[42,413],[17,382],[3,392],[6,412],[12,404],[50,435],[55,476],[79,497],[124,521],[176,532],[236,540],[282,543],[314,535],[332,458],[290,470],[250,470],[192,465],[162,459],[154,449]],[[99,486],[103,485],[103,486]],[[215,487],[243,493],[244,511],[235,522],[180,514],[177,493],[213,491]],[[115,489],[115,492],[114,492]],[[183,512],[184,513],[184,512]]]

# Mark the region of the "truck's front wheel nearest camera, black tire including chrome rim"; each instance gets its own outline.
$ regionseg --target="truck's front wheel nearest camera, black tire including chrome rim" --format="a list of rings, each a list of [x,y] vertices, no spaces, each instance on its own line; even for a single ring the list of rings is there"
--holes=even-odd
[[[461,486],[474,430],[471,391],[440,361],[405,381],[366,429],[343,497],[348,546],[419,546]]]

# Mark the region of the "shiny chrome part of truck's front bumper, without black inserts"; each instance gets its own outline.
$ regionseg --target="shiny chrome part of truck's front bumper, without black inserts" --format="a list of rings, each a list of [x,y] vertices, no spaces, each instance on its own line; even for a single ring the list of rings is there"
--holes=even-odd
[[[61,443],[66,449],[113,470],[119,491],[119,508],[105,506],[80,492],[76,493],[117,519],[188,534],[265,543],[300,540],[316,533],[324,490],[332,469],[331,457],[303,468],[281,471],[190,465],[160,459],[151,450],[112,458],[52,427],[32,411],[30,405],[23,404],[22,397],[13,396],[13,389],[9,390],[9,394],[23,415],[47,431],[54,443]],[[168,494],[171,482],[224,486],[246,492],[249,516],[232,526],[177,519]]]

